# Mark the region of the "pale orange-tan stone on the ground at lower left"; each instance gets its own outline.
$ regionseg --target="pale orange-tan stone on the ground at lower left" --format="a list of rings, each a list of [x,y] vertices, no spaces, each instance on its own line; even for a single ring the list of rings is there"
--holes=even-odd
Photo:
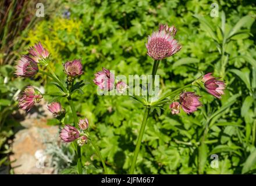
[[[59,127],[48,126],[51,113],[45,102],[31,110],[24,120],[23,127],[15,134],[10,155],[10,166],[15,174],[53,174],[51,156],[46,152],[48,143],[59,143]]]

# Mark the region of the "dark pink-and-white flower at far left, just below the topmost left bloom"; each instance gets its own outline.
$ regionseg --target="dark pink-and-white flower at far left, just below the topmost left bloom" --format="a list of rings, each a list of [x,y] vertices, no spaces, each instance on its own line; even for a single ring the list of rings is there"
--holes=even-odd
[[[22,58],[18,60],[15,68],[15,74],[18,77],[32,77],[38,73],[37,62],[27,55],[22,56]]]

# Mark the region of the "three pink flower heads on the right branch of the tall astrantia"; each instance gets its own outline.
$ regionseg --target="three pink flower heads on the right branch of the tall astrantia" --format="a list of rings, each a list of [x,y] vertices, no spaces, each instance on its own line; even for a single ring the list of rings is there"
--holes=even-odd
[[[212,73],[205,74],[201,78],[201,82],[204,83],[205,90],[214,95],[216,98],[221,98],[224,94],[223,90],[225,89],[225,83],[219,78],[211,76]],[[199,101],[200,96],[195,95],[194,92],[183,92],[180,94],[179,102],[172,102],[169,106],[173,115],[177,115],[180,113],[180,106],[186,113],[192,113],[197,110],[199,106],[201,106],[201,102]]]

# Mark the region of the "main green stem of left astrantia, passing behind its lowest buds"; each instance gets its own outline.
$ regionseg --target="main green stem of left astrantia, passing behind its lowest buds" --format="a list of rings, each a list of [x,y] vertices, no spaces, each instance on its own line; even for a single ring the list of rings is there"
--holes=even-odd
[[[78,118],[76,115],[76,109],[74,108],[74,103],[72,101],[72,98],[69,96],[67,98],[69,100],[69,105],[72,110],[73,119],[76,127],[78,127]],[[81,148],[79,145],[76,144],[76,155],[77,155],[77,170],[79,174],[82,174],[82,162],[81,162]]]

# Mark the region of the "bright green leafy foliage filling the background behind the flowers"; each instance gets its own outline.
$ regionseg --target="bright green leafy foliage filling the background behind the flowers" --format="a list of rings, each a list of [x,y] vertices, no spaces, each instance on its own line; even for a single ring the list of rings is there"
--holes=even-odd
[[[109,173],[123,174],[129,170],[143,108],[129,96],[98,96],[92,81],[94,73],[106,67],[125,76],[150,74],[153,60],[146,54],[145,42],[159,23],[174,24],[182,44],[180,52],[159,65],[162,91],[175,90],[199,77],[201,72],[211,71],[224,76],[227,89],[221,100],[207,92],[198,92],[204,106],[191,115],[182,112],[173,116],[169,105],[160,110],[161,116],[151,113],[136,173],[255,173],[255,2],[216,1],[219,17],[210,16],[211,3],[207,0],[63,1],[62,12],[69,10],[69,18],[63,17],[62,12],[56,13],[51,19],[38,22],[22,38],[27,42],[24,52],[41,41],[51,53],[52,68],[59,75],[63,62],[82,59],[85,73],[80,79],[90,84],[83,88],[83,95],[74,96],[75,105],[80,117],[88,117],[90,138],[100,147]],[[234,36],[226,46],[229,60],[224,74],[219,70],[221,55],[213,35],[195,17],[204,17],[214,29],[216,40],[221,41],[218,30],[222,25],[221,10],[226,13],[227,31],[249,15],[241,26],[244,32]],[[54,88],[44,78],[41,83],[49,91]],[[73,122],[69,113],[65,123]],[[92,146],[84,145],[82,150],[84,173],[102,173]],[[212,154],[219,157],[218,169],[210,166]],[[60,170],[60,173],[70,172],[71,169]]]

